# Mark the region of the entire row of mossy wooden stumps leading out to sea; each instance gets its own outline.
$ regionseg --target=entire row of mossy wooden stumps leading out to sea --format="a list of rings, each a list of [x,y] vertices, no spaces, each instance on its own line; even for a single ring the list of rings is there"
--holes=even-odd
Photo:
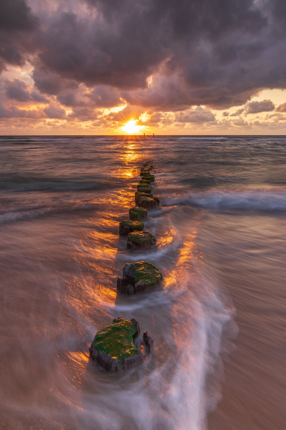
[[[119,224],[119,234],[127,236],[127,249],[152,246],[156,238],[144,230],[143,221],[148,217],[149,208],[157,208],[160,201],[152,194],[151,182],[154,175],[151,164],[140,169],[141,179],[135,192],[135,205],[129,209],[129,219]],[[147,261],[125,264],[123,276],[117,279],[118,292],[126,295],[149,289],[155,290],[162,283],[162,273]],[[153,350],[153,340],[148,332],[139,338],[140,327],[134,318],[114,319],[96,333],[90,346],[90,356],[105,370],[122,371],[141,363]]]

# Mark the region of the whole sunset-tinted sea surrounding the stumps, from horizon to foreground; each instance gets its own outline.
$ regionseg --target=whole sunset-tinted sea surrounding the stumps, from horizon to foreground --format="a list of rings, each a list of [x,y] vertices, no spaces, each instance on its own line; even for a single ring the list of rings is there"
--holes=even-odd
[[[286,137],[8,136],[0,151],[1,428],[286,428]],[[145,162],[157,246],[131,252],[118,225]],[[162,291],[117,295],[140,260]],[[123,375],[88,354],[118,316],[155,345]]]

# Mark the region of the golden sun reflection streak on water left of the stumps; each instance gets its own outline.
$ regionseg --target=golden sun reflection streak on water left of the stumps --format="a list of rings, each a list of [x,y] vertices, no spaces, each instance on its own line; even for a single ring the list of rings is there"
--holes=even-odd
[[[115,178],[134,179],[138,174],[134,163],[141,158],[139,140],[126,139],[122,144],[120,164],[113,175]],[[102,196],[102,210],[91,216],[87,222],[90,228],[83,230],[81,239],[74,243],[74,258],[81,268],[80,276],[74,277],[68,286],[69,305],[79,314],[94,314],[96,318],[110,313],[116,299],[117,270],[114,267],[118,251],[118,228],[120,215],[134,205],[134,186],[126,184],[120,190],[113,190]],[[128,215],[126,215],[126,218]]]

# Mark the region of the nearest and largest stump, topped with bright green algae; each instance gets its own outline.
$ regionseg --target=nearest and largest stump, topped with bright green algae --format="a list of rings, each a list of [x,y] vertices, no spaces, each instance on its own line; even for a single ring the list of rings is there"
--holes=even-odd
[[[142,362],[143,354],[135,347],[140,334],[136,319],[114,319],[96,333],[89,348],[90,356],[105,370],[124,370]]]

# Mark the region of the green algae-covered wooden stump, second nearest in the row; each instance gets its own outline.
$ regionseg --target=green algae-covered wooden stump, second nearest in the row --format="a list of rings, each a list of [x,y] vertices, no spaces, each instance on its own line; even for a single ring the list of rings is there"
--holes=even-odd
[[[150,288],[155,290],[161,283],[162,273],[154,264],[138,261],[125,264],[123,277],[117,279],[117,290],[123,294],[134,294]]]

